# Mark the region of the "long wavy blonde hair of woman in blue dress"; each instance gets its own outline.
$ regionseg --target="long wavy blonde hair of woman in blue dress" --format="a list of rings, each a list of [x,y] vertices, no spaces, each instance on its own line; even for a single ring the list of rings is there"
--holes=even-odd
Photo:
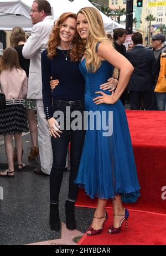
[[[80,9],[80,11],[77,13],[77,16],[79,13],[85,15],[89,25],[87,49],[85,51],[86,68],[92,73],[95,73],[101,65],[101,60],[98,58],[96,52],[97,42],[105,42],[110,45],[112,45],[112,42],[106,36],[102,17],[96,8],[84,7]]]

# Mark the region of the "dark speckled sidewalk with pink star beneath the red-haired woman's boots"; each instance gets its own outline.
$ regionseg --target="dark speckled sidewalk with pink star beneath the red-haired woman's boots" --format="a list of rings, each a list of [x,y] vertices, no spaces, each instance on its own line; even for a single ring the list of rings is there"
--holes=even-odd
[[[14,141],[13,141],[14,146]],[[30,134],[23,136],[22,171],[15,171],[14,178],[0,177],[3,199],[0,199],[0,245],[20,244],[75,244],[90,225],[94,209],[76,207],[77,230],[69,231],[65,223],[65,201],[68,198],[69,172],[64,172],[59,197],[62,231],[54,232],[49,227],[49,176],[35,175],[33,170],[40,165],[28,160]],[[0,137],[0,170],[7,168],[7,158]],[[14,169],[17,170],[17,161]]]

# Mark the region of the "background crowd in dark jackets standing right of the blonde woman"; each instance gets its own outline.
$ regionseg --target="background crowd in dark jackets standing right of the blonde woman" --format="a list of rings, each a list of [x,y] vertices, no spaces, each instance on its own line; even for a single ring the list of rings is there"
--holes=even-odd
[[[117,52],[125,56],[134,67],[131,79],[121,96],[123,106],[130,103],[131,110],[166,110],[166,85],[164,81],[164,66],[160,65],[165,58],[165,36],[152,35],[151,47],[143,46],[143,37],[139,32],[133,33],[132,42],[126,51],[126,30],[117,28],[107,37],[112,40]],[[137,57],[137,58],[136,58]],[[163,79],[162,79],[163,77]]]

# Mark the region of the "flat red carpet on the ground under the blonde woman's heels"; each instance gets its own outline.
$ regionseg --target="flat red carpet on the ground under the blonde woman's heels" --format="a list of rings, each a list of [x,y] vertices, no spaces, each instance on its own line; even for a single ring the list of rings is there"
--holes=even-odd
[[[100,235],[87,236],[79,245],[165,245],[166,244],[166,214],[129,212],[128,229],[122,224],[121,232],[108,234],[107,229],[112,224],[112,210],[107,209],[106,227]]]

